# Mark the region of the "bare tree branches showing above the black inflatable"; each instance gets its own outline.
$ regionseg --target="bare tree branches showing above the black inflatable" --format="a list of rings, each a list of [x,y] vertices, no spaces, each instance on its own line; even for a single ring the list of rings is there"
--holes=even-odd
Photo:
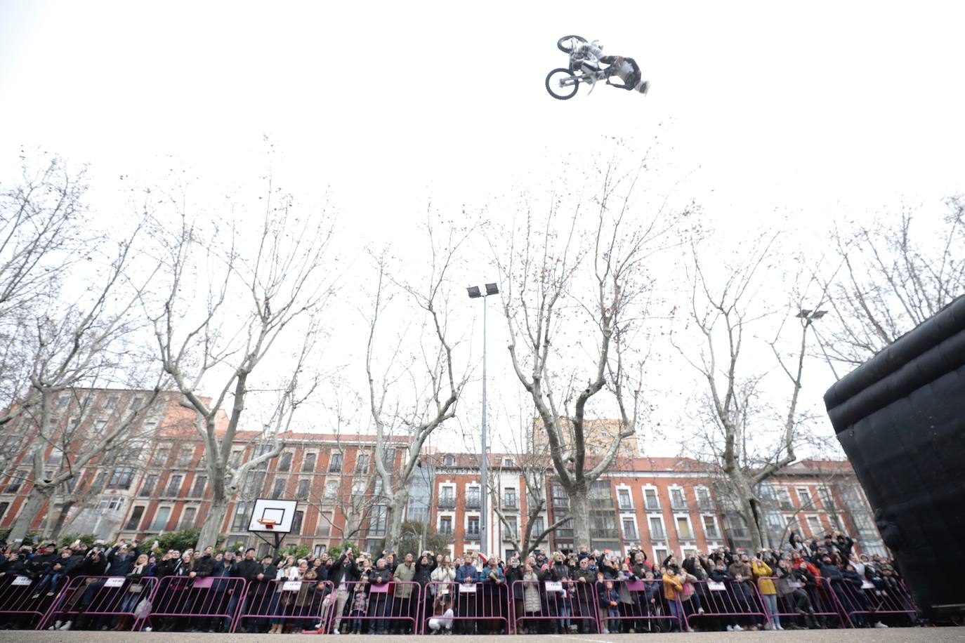
[[[865,362],[965,292],[965,198],[945,203],[941,222],[906,208],[836,230],[841,267],[825,280],[836,360]]]

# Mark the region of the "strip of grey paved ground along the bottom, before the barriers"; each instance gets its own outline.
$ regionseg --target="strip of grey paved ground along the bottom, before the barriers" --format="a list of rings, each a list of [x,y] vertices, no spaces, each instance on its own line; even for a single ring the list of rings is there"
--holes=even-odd
[[[191,634],[184,632],[110,632],[110,631],[22,631],[0,630],[0,641],[17,643],[260,643],[291,640],[288,635],[270,634]],[[308,638],[304,635],[301,638]],[[347,638],[355,643],[468,643],[488,636],[325,636],[327,640]],[[891,630],[802,630],[699,632],[693,634],[573,634],[511,636],[511,643],[731,643],[737,641],[774,641],[775,643],[960,643],[965,628],[893,628]],[[415,640],[412,640],[415,639]]]

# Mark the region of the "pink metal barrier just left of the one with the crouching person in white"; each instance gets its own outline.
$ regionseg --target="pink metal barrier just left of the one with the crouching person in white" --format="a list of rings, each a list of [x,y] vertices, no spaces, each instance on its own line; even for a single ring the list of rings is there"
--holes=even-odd
[[[331,600],[322,630],[419,633],[422,591],[417,582],[342,582]]]

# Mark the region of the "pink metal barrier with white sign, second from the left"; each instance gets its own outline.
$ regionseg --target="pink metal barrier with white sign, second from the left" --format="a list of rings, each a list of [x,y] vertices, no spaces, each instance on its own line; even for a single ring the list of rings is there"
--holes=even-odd
[[[119,624],[124,625],[124,630],[137,630],[143,621],[134,612],[156,590],[157,578],[150,576],[139,580],[124,576],[74,576],[57,594],[38,630],[58,621],[71,621],[78,630]]]

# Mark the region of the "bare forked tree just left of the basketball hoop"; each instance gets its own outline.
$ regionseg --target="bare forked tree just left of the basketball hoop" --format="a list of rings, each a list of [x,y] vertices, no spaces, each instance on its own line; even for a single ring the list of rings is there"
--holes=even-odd
[[[199,548],[216,543],[247,473],[281,452],[281,434],[318,383],[312,364],[322,335],[320,311],[334,279],[327,270],[330,222],[325,213],[298,214],[270,175],[261,201],[257,223],[238,222],[228,230],[207,227],[188,216],[182,201],[169,201],[179,225],[166,247],[168,295],[152,322],[164,369],[197,415],[205,444],[212,498]],[[194,281],[204,276],[207,289],[192,297]],[[269,356],[279,364],[274,369]],[[209,401],[202,386],[215,391]],[[262,412],[254,418],[245,413],[252,392]],[[247,462],[231,457],[242,419],[260,425],[262,448]]]

